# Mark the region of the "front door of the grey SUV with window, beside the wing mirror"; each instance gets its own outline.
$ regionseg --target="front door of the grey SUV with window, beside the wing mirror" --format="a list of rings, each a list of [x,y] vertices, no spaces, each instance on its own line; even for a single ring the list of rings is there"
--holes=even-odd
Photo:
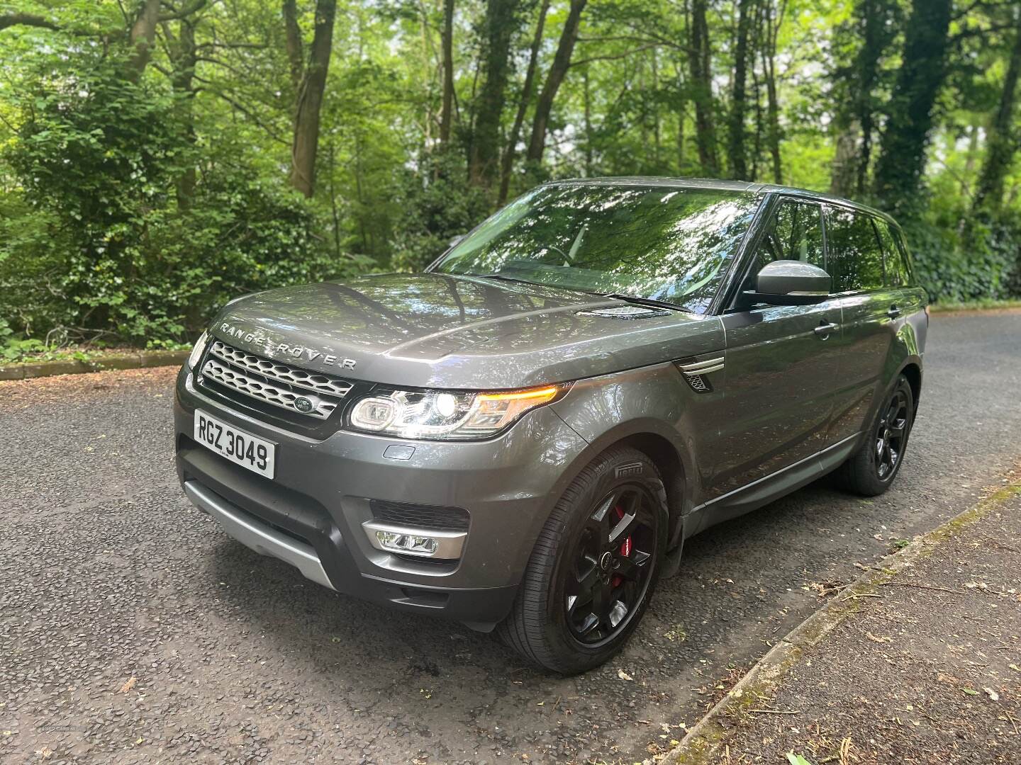
[[[826,267],[822,206],[780,198],[752,245],[741,291],[773,260]],[[710,499],[812,458],[822,448],[840,377],[840,301],[732,310],[726,412]]]

